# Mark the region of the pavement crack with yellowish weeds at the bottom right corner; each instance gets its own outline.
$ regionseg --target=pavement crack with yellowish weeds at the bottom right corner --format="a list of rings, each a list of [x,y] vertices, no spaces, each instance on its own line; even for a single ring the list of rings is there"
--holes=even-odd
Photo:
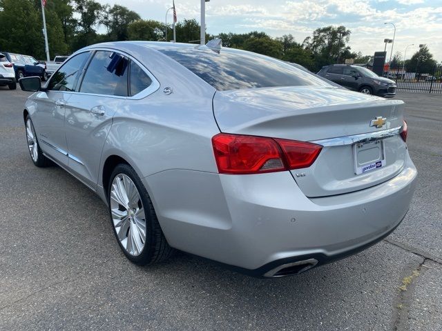
[[[401,285],[397,289],[398,299],[394,303],[394,331],[407,330],[407,319],[410,313],[413,290],[422,268],[425,267],[425,261],[428,261],[428,259],[422,259],[421,263],[410,274],[403,277]]]

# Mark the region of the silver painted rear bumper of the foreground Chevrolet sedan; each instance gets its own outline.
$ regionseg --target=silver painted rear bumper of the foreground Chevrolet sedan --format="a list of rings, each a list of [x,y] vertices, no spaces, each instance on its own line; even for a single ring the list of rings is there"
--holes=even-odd
[[[381,240],[410,206],[417,171],[407,154],[393,179],[309,199],[289,172],[220,175],[170,170],[144,179],[169,243],[262,276],[281,263],[318,265]]]

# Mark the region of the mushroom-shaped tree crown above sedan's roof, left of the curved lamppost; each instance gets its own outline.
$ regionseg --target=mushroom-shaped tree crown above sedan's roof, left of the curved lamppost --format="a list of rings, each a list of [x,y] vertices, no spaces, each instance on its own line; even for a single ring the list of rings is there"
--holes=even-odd
[[[106,6],[102,23],[108,30],[108,37],[111,40],[128,40],[128,26],[141,19],[140,15],[124,6],[114,5],[112,8]]]

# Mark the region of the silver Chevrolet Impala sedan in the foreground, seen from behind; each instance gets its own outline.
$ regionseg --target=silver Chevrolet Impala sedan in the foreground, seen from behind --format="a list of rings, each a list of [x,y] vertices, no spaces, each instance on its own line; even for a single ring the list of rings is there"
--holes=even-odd
[[[259,277],[298,274],[390,234],[416,185],[403,101],[261,54],[100,43],[44,88],[20,85],[37,92],[23,112],[32,162],[96,192],[140,265],[176,248]]]

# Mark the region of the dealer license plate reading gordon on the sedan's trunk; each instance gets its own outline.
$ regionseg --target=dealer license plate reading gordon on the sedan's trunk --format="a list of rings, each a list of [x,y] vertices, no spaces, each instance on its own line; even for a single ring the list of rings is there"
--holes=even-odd
[[[383,140],[353,145],[354,172],[365,174],[378,168],[385,167],[385,146]]]

